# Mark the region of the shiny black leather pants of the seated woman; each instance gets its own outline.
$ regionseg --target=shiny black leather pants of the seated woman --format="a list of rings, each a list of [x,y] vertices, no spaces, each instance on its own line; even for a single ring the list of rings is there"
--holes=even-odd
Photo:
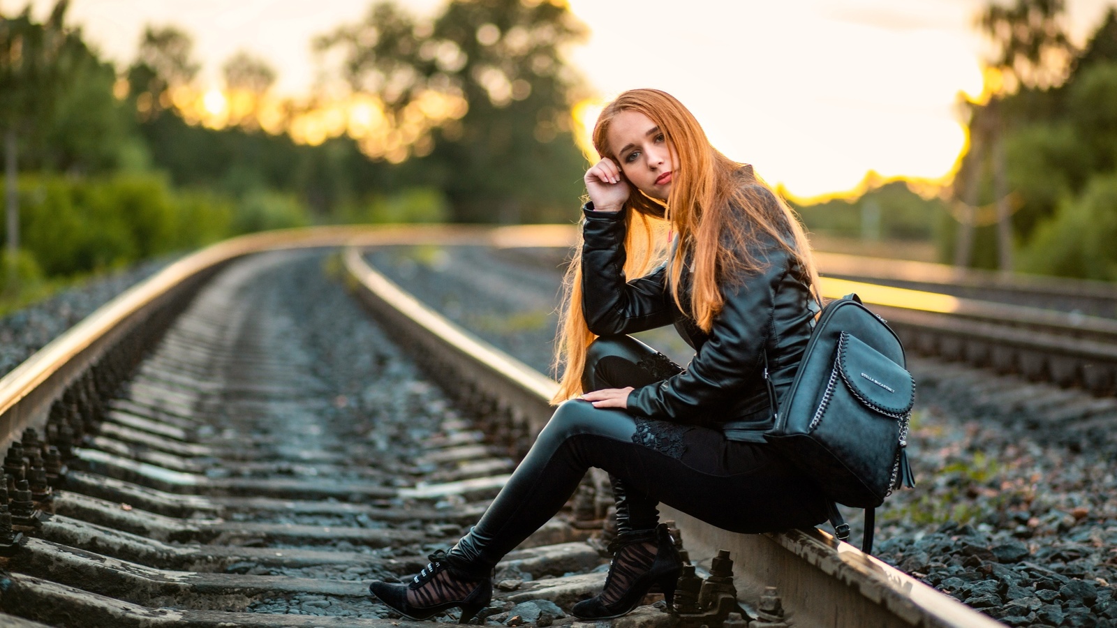
[[[658,356],[657,356],[658,355]],[[670,361],[628,336],[595,341],[586,390],[642,386],[670,377]],[[666,374],[665,374],[666,373]],[[508,483],[451,553],[490,569],[562,508],[590,467],[620,480],[633,530],[653,527],[662,502],[733,532],[809,527],[825,521],[813,483],[766,444],[727,440],[720,430],[633,418],[590,402],[562,403]]]

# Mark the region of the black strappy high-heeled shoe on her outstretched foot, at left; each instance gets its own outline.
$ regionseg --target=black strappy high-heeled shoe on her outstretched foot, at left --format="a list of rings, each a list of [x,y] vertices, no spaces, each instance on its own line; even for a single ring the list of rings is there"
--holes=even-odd
[[[493,599],[493,579],[471,572],[460,559],[439,550],[428,556],[430,563],[407,584],[380,580],[369,584],[369,592],[408,619],[428,619],[461,607],[459,624],[472,619]],[[410,597],[410,599],[409,599]]]

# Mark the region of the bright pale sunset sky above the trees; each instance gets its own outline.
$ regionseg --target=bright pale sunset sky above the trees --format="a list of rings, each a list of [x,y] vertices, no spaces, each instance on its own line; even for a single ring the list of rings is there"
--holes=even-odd
[[[569,0],[589,27],[570,58],[603,102],[658,87],[686,104],[713,143],[798,197],[855,188],[866,172],[942,178],[964,143],[960,92],[981,92],[978,0]],[[430,15],[441,0],[400,0]],[[1069,0],[1077,41],[1106,0]],[[6,13],[25,0],[0,0]],[[35,2],[41,15],[51,1]],[[132,59],[144,25],[189,31],[217,85],[238,50],[298,95],[315,76],[309,41],[352,22],[355,0],[73,0],[70,21],[106,56]],[[580,112],[595,115],[595,103]]]

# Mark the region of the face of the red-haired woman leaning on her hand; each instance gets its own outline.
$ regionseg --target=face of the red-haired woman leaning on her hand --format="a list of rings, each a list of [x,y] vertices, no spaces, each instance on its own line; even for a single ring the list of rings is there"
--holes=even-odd
[[[624,177],[645,194],[667,200],[678,156],[662,131],[642,113],[626,110],[613,117],[608,137]]]

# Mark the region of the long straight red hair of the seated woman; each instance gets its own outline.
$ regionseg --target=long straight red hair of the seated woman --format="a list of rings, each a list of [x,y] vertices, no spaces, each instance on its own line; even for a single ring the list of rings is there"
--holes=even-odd
[[[620,164],[609,145],[609,127],[620,112],[639,112],[656,124],[674,149],[674,184],[666,204],[629,183],[624,212],[627,234],[624,276],[639,277],[666,259],[668,227],[678,238],[668,260],[669,285],[682,310],[679,277],[686,259],[693,263],[687,312],[709,332],[725,303],[718,285],[726,277],[755,273],[761,261],[748,251],[763,240],[780,242],[818,285],[818,273],[802,226],[779,194],[752,172],[710,145],[694,115],[674,96],[659,89],[624,92],[602,110],[593,127],[593,146],[602,158]],[[787,241],[787,236],[791,241]],[[562,373],[552,403],[581,394],[585,353],[596,337],[582,315],[582,242],[566,272],[561,323],[555,340],[556,372]]]

